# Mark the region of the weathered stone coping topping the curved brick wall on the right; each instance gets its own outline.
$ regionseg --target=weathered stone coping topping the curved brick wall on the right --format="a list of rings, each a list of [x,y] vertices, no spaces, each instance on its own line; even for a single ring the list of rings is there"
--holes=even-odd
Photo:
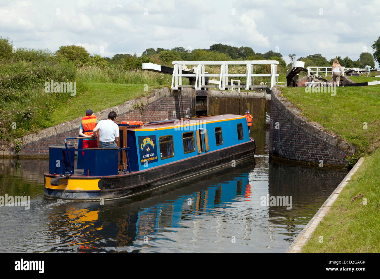
[[[273,98],[271,98],[271,102],[273,102],[273,104],[278,107],[280,112],[295,125],[308,132],[309,134],[315,136],[317,139],[326,142],[328,145],[337,147],[349,154],[355,153],[355,146],[346,142],[344,139],[333,132],[323,131],[323,129],[326,128],[319,123],[314,121],[307,121],[307,118],[302,116],[301,110],[294,107],[294,105],[291,104],[291,102],[287,101],[285,97],[280,96],[281,91],[278,88],[272,88],[272,95]]]

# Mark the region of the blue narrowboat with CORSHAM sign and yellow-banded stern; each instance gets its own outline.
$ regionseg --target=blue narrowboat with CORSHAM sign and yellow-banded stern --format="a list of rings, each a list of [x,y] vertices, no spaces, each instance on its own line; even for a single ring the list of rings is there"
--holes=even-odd
[[[249,137],[245,116],[209,115],[141,124],[118,124],[118,149],[82,149],[81,139],[75,148],[72,143],[77,137],[65,139],[65,145],[49,146],[44,196],[119,199],[234,167],[255,155],[255,140]]]

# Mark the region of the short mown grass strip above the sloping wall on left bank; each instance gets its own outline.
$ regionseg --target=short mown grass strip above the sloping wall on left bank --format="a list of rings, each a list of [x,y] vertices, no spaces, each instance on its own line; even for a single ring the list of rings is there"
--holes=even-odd
[[[51,126],[83,117],[87,109],[98,112],[109,107],[117,106],[136,98],[147,95],[143,84],[100,84],[87,83],[88,90],[65,104],[60,105],[59,110],[52,112]],[[148,87],[148,90],[154,88]]]

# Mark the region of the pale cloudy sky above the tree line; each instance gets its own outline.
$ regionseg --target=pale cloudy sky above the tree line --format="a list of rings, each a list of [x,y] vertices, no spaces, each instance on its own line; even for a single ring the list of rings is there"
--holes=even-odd
[[[0,0],[0,36],[14,47],[83,46],[90,54],[212,44],[357,60],[380,36],[380,0]],[[376,63],[377,66],[377,63]]]

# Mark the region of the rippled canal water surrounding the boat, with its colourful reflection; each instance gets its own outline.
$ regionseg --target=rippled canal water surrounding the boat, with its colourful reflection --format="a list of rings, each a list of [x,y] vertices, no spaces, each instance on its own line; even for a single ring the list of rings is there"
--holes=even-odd
[[[0,207],[0,252],[285,252],[346,173],[271,162],[251,136],[254,159],[104,205],[46,199],[47,161],[0,159],[0,196],[31,199]]]

